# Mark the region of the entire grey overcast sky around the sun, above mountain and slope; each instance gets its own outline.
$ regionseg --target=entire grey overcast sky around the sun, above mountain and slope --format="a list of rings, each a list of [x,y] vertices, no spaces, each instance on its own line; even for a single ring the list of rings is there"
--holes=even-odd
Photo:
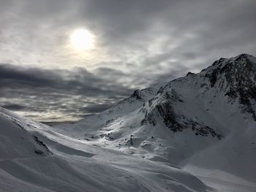
[[[0,105],[77,120],[219,58],[256,55],[255,0],[0,0]],[[94,47],[78,51],[83,28]]]

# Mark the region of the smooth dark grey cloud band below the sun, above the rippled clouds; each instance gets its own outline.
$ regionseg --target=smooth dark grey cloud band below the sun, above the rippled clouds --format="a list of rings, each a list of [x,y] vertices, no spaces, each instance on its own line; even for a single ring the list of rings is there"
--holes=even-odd
[[[113,74],[111,69],[108,72]],[[116,74],[116,72],[115,72]],[[7,64],[0,64],[0,88],[31,88],[32,90],[50,89],[61,93],[79,93],[84,96],[110,96],[127,95],[129,88],[124,88],[108,80],[86,71],[76,68],[72,71],[37,68],[23,68]],[[50,93],[50,92],[49,92]],[[53,91],[54,93],[54,91]]]

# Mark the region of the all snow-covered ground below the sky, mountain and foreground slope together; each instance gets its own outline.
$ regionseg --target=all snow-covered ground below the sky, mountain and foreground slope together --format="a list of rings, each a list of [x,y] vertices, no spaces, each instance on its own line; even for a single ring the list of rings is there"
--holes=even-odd
[[[256,191],[256,58],[49,127],[0,109],[0,191]]]

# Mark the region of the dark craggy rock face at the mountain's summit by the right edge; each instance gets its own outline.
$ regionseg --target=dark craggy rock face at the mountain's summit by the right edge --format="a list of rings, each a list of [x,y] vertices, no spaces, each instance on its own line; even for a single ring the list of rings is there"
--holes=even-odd
[[[219,87],[232,101],[239,99],[243,111],[250,112],[256,120],[256,64],[252,55],[241,54],[236,58],[221,58],[208,69],[206,77],[211,87]],[[219,80],[219,82],[217,82]]]

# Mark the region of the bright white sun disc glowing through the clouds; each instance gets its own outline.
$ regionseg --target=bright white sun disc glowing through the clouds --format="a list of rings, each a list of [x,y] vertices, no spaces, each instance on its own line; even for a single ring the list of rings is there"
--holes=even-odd
[[[94,47],[94,35],[86,29],[78,28],[70,34],[70,42],[76,50],[90,50]]]

